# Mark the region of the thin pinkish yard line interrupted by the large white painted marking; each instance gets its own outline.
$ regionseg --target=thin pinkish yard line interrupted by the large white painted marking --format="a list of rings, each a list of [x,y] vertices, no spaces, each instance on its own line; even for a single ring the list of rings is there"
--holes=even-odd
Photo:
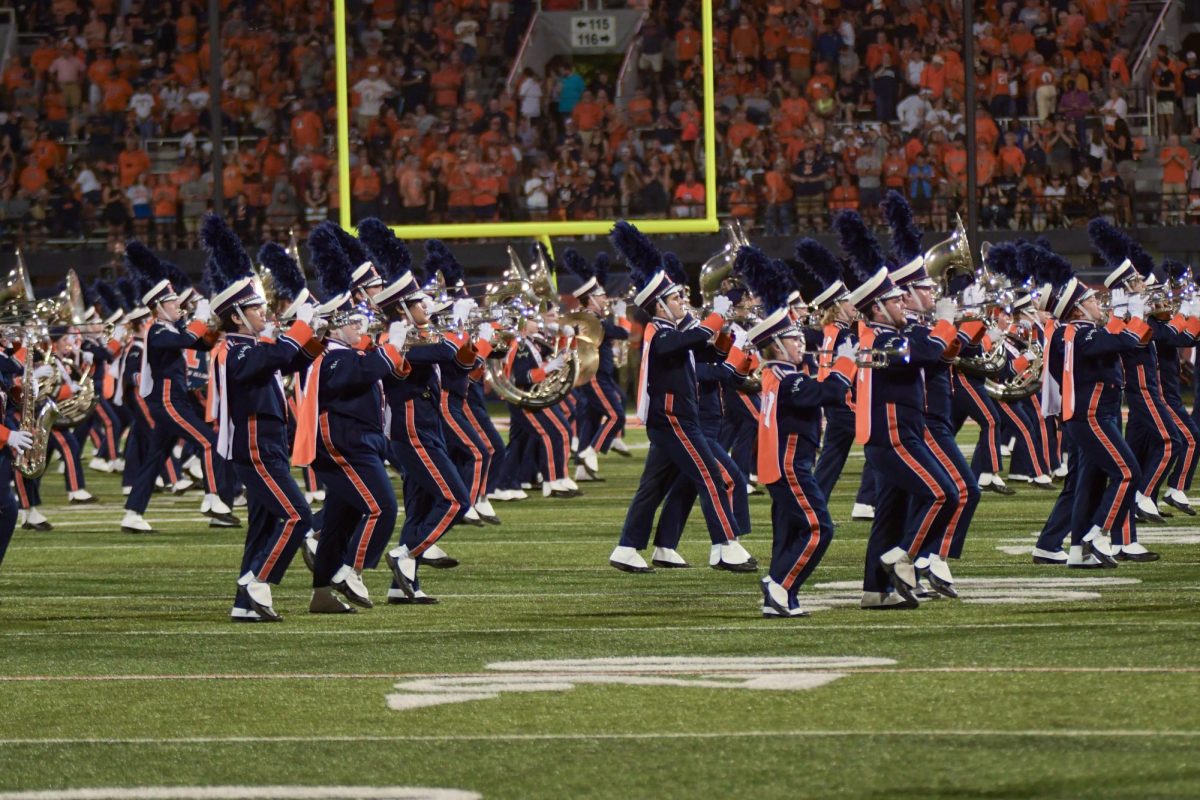
[[[1188,675],[1200,673],[1200,667],[804,667],[804,672],[838,672],[864,674],[1165,674]],[[474,673],[210,673],[210,674],[162,674],[162,675],[0,675],[0,684],[55,684],[55,682],[173,682],[173,681],[259,681],[259,680],[403,680],[496,678],[497,672]]]

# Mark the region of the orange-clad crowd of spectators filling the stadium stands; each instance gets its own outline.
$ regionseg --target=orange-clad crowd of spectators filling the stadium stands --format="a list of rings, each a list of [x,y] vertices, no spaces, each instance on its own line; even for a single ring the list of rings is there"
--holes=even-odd
[[[0,76],[0,228],[194,246],[211,205],[204,4],[26,0],[41,38]],[[329,0],[224,0],[221,187],[250,240],[334,217]],[[546,10],[578,0],[542,0]],[[594,4],[593,4],[594,5]],[[415,222],[700,216],[702,36],[686,0],[647,12],[636,90],[618,61],[509,70],[533,0],[347,0],[355,217]],[[966,191],[959,0],[715,4],[721,213],[768,234],[822,229],[888,188],[944,229]],[[1130,84],[1126,0],[982,0],[970,70],[985,227],[1040,230],[1100,210],[1200,217],[1200,65],[1160,48]],[[1147,151],[1130,106],[1154,102]],[[148,142],[169,139],[163,149]],[[178,144],[175,144],[178,140]],[[1141,166],[1162,168],[1152,203]]]

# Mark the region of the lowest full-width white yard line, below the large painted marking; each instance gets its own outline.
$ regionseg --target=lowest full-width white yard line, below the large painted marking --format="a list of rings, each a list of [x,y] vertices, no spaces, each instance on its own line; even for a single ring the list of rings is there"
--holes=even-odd
[[[631,732],[631,733],[492,733],[492,734],[380,734],[360,736],[337,736],[318,734],[312,736],[130,736],[130,738],[66,738],[54,736],[46,739],[0,739],[0,747],[16,746],[64,746],[64,745],[154,745],[154,746],[179,746],[179,745],[266,745],[266,744],[330,744],[330,742],[398,742],[398,741],[610,741],[610,740],[654,740],[654,739],[823,739],[823,738],[886,738],[886,739],[910,739],[923,738],[1004,738],[1004,739],[1092,739],[1092,738],[1200,738],[1200,730],[1150,730],[1150,729],[1080,729],[1064,728],[1055,730],[1052,728],[1033,728],[1019,730],[964,728],[936,730],[904,729],[904,730],[880,730],[878,728],[833,728],[833,729],[791,729],[791,730],[662,730],[662,732]],[[0,795],[2,796],[2,795]]]

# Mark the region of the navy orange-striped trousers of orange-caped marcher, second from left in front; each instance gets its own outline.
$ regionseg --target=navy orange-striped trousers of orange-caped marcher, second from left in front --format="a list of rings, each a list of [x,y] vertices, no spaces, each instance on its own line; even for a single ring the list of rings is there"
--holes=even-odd
[[[330,411],[318,420],[313,469],[326,487],[312,573],[312,585],[319,589],[330,585],[343,564],[359,571],[379,564],[396,527],[396,492],[384,465],[389,445],[382,432]],[[338,440],[355,444],[338,450],[331,425],[342,428]]]

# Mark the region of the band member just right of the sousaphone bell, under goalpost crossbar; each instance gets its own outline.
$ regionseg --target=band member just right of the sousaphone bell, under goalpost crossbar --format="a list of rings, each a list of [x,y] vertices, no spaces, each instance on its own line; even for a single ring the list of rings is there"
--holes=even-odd
[[[625,403],[617,385],[617,368],[613,363],[613,342],[629,341],[629,324],[625,320],[625,301],[613,303],[613,318],[608,319],[608,295],[605,278],[608,275],[608,254],[601,252],[594,264],[575,249],[563,253],[563,266],[582,281],[571,294],[583,311],[594,314],[604,329],[604,338],[598,353],[596,374],[580,387],[583,409],[580,420],[578,458],[575,480],[595,479],[600,471],[600,459],[612,447],[625,420]],[[624,325],[622,324],[624,323]]]

